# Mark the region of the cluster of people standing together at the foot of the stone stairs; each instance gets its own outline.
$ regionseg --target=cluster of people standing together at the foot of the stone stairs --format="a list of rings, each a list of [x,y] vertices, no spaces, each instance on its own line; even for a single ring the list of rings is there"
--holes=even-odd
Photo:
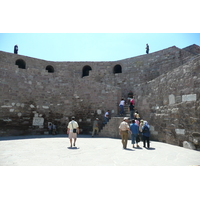
[[[136,147],[139,147],[138,143],[141,140],[143,140],[144,148],[150,148],[150,126],[147,121],[132,119],[129,123],[129,118],[125,117],[119,126],[119,134],[122,137],[124,149],[127,148],[129,134],[131,134],[133,148],[135,148],[135,144]]]

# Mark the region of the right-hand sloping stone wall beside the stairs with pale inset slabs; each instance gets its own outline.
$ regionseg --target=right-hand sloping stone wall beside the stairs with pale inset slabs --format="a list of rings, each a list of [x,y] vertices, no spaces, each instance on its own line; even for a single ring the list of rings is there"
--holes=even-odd
[[[134,88],[136,107],[152,125],[152,138],[200,146],[200,56]]]

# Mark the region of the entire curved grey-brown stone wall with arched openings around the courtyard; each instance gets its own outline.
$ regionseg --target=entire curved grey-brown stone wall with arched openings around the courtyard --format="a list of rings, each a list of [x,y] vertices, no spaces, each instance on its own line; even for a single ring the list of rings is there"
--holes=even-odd
[[[132,90],[154,139],[198,145],[199,52],[197,45],[173,46],[113,62],[51,62],[0,52],[0,135],[43,134],[48,122],[63,133],[73,115],[88,133],[106,110],[117,116],[120,98]]]

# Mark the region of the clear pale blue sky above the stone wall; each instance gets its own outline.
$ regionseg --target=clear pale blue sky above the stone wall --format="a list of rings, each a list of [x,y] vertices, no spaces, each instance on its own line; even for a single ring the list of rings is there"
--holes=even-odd
[[[117,61],[171,46],[200,46],[200,33],[0,33],[0,50],[49,61]]]

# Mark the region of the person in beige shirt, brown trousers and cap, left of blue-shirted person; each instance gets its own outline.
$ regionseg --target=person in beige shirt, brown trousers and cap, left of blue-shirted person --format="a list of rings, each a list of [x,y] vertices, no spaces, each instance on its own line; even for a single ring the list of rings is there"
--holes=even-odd
[[[128,117],[125,117],[123,122],[121,122],[121,124],[119,126],[119,134],[122,137],[122,145],[123,145],[124,149],[126,149],[126,147],[127,147],[129,130],[130,130],[130,127],[128,124]]]

